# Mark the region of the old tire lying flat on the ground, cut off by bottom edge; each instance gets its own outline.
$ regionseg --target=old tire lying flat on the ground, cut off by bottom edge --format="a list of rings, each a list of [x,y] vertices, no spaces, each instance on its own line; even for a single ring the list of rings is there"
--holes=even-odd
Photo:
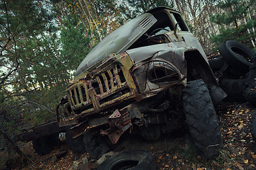
[[[97,170],[155,170],[154,157],[146,151],[127,151],[105,160]]]

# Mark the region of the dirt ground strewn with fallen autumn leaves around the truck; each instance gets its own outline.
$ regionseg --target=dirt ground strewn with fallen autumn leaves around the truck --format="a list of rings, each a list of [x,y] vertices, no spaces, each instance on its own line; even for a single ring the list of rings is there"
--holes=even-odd
[[[256,169],[256,145],[252,139],[249,125],[256,106],[250,103],[223,103],[216,107],[220,130],[223,135],[224,147],[219,157],[206,161],[193,149],[189,135],[186,132],[162,136],[155,142],[149,142],[139,136],[129,137],[124,142],[122,150],[145,149],[153,154],[157,169]],[[56,148],[50,154],[40,156],[28,142],[23,146],[23,152],[31,155],[30,163],[23,166],[27,169],[96,169],[95,161],[83,154],[75,160],[75,156],[66,145]],[[22,161],[21,161],[22,162]],[[19,169],[20,165],[12,169]],[[8,169],[7,166],[5,168]]]

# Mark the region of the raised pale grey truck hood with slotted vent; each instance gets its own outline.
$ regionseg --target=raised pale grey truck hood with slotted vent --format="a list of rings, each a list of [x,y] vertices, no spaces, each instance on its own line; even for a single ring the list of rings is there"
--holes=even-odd
[[[99,42],[85,59],[82,60],[75,72],[75,76],[85,72],[85,70],[100,60],[104,60],[108,55],[112,53],[119,54],[127,50],[154,23],[156,23],[156,18],[151,13],[144,13],[125,23],[124,26],[119,27],[117,30],[114,30]]]

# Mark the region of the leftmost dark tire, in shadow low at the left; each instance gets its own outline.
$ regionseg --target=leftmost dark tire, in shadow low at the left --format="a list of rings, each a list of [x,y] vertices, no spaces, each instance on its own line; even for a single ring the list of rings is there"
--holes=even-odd
[[[45,155],[52,152],[54,147],[60,145],[60,140],[58,140],[58,133],[56,133],[33,140],[32,144],[36,153]]]

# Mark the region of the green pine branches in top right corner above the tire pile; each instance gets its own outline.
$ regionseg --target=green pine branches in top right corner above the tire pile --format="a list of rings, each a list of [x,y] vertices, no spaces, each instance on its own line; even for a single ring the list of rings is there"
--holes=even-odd
[[[212,35],[211,40],[220,45],[225,40],[238,40],[239,42],[249,42],[250,38],[255,38],[252,27],[255,27],[255,20],[248,15],[254,10],[255,0],[240,1],[228,0],[220,1],[218,7],[222,13],[211,16],[211,21],[219,25],[220,33]],[[246,21],[246,23],[245,23]],[[248,29],[250,33],[248,33]]]

